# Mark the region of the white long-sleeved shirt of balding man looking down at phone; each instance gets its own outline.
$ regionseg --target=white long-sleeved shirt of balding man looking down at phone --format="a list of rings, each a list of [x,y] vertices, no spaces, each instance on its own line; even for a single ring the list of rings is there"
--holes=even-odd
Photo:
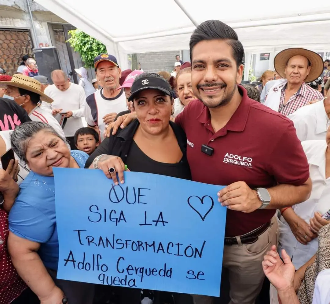
[[[84,89],[81,86],[71,83],[69,89],[62,92],[55,85],[51,85],[45,89],[45,94],[54,101],[52,103],[42,102],[42,108],[46,110],[62,109],[63,113],[72,111],[72,116],[68,118],[63,131],[66,137],[74,136],[76,131],[83,127],[81,118],[86,111]]]

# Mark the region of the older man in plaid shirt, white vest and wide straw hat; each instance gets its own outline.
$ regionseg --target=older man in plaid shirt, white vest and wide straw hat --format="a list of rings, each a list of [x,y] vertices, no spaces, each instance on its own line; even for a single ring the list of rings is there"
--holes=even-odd
[[[323,71],[323,60],[317,53],[303,48],[289,48],[276,55],[274,66],[286,80],[269,90],[264,105],[288,116],[310,101],[323,98],[319,91],[307,85]]]

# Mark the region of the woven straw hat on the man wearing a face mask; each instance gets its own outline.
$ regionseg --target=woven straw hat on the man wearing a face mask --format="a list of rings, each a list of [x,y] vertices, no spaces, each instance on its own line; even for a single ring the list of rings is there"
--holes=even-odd
[[[53,100],[41,91],[41,83],[29,76],[15,74],[11,81],[0,81],[0,87],[12,86],[40,95],[40,100],[51,103]]]

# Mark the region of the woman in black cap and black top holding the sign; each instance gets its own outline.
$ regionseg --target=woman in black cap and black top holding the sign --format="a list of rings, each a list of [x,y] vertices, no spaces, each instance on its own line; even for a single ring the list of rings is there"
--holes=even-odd
[[[143,73],[136,77],[131,91],[128,100],[133,101],[137,119],[104,139],[85,167],[103,170],[116,184],[116,173],[119,182],[123,182],[125,165],[130,171],[191,179],[186,136],[181,127],[170,121],[174,100],[169,83],[158,74]],[[171,293],[162,292],[159,296],[160,303],[174,303]],[[121,303],[139,303],[139,298],[139,290],[125,289]],[[174,294],[174,298],[176,304],[192,303],[187,294]]]

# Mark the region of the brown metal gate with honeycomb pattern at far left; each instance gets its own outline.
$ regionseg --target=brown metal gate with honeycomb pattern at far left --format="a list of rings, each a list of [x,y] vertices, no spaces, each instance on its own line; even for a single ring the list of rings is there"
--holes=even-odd
[[[0,67],[14,75],[24,55],[32,57],[33,42],[29,30],[0,28]]]

